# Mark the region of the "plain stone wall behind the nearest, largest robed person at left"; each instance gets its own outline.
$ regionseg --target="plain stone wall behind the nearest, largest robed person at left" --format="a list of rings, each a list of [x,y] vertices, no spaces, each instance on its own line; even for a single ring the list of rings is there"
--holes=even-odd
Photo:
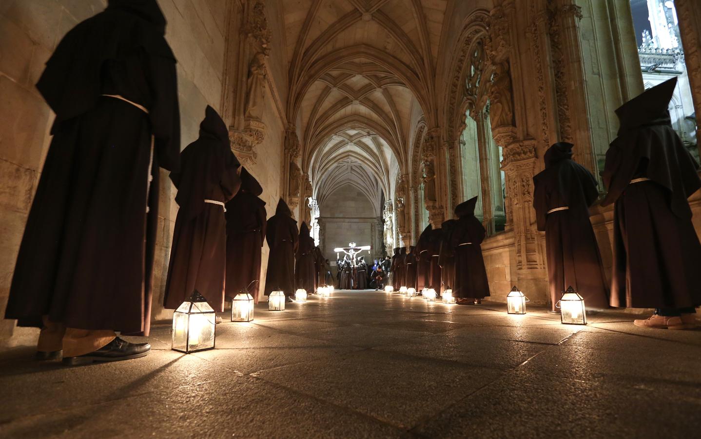
[[[0,3],[0,313],[6,299],[27,214],[46,156],[53,116],[34,88],[62,36],[104,9],[104,0],[5,0]],[[178,60],[182,147],[196,139],[205,106],[219,109],[224,59],[222,0],[161,0],[168,39]],[[273,158],[271,158],[274,160]],[[274,174],[274,173],[273,173]],[[172,227],[177,205],[161,173],[161,206],[154,286],[154,317],[163,311]],[[0,320],[0,344],[34,337],[36,330]]]

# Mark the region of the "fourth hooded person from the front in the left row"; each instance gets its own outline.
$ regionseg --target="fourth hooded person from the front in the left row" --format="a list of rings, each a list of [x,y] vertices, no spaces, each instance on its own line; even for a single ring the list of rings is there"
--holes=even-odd
[[[266,241],[270,254],[268,255],[268,271],[265,280],[265,295],[281,289],[285,296],[294,296],[294,253],[299,245],[297,222],[292,219],[292,212],[287,203],[280,198],[275,215],[268,219]]]

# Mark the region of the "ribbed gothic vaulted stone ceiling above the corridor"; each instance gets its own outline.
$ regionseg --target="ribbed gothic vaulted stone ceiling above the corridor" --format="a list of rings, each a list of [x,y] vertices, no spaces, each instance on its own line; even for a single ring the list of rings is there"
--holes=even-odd
[[[447,0],[285,0],[287,114],[315,198],[351,184],[377,207],[405,168],[410,115],[435,109]]]

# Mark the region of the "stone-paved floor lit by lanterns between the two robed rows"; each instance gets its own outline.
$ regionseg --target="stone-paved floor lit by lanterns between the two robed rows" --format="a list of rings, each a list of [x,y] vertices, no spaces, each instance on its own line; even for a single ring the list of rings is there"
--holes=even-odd
[[[83,367],[0,353],[0,436],[615,438],[701,435],[701,330],[336,292],[217,326],[217,349]]]

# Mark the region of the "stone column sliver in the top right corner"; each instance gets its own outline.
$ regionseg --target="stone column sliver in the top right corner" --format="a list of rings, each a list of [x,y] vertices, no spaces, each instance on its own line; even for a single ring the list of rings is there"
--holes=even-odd
[[[686,71],[691,86],[691,95],[696,111],[696,120],[701,117],[701,2],[698,0],[675,0],[676,16],[679,18],[681,45],[684,48]],[[701,124],[696,124],[697,147],[701,149]]]

